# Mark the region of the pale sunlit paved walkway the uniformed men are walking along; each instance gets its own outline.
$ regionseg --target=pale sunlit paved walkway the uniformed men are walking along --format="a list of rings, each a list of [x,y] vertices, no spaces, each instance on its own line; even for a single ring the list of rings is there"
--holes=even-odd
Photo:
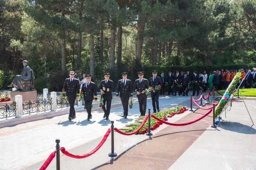
[[[134,99],[137,98],[135,97]],[[189,106],[189,102],[190,98],[184,96],[161,96],[159,99],[160,109],[175,106]],[[51,119],[1,128],[0,146],[2,152],[0,157],[0,170],[39,169],[42,162],[54,151],[56,138],[61,140],[61,146],[64,146],[70,151],[76,151],[75,153],[82,154],[91,151],[102,139],[111,124],[110,120],[106,121],[102,119],[103,112],[97,105],[98,103],[94,104],[92,121],[87,121],[87,113],[82,111],[77,112],[77,117],[72,122],[67,121],[67,115],[62,115]],[[129,109],[128,119],[121,118],[123,111],[120,99],[113,99],[112,105],[110,119],[115,121],[115,127],[117,128],[122,128],[125,124],[134,122],[135,118],[139,115],[136,100],[134,108]],[[152,109],[150,98],[148,98],[148,107]],[[173,120],[180,119],[185,115],[186,114],[177,115]],[[162,126],[161,128],[164,127],[165,126]],[[161,128],[159,128],[159,130]],[[136,135],[133,138],[124,138],[123,136],[119,138],[118,135],[116,135],[116,138],[119,139],[119,141],[117,140],[116,142],[117,146],[119,146],[118,143],[122,144],[120,148],[116,148],[116,151],[121,153],[147,137],[145,135]],[[84,159],[89,161],[85,169],[97,167],[101,162],[104,163],[108,160],[108,157],[105,155],[107,155],[110,150],[109,142],[110,138],[108,138],[108,141],[104,144],[104,147],[106,147],[105,151],[103,151],[103,147],[94,157]],[[98,159],[101,157],[102,159]],[[63,164],[75,164],[76,161],[78,161],[77,163],[79,164],[79,160],[65,159],[68,160],[62,161]],[[97,161],[95,161],[95,159]],[[54,162],[55,161],[51,164],[53,167],[55,167]],[[88,167],[88,165],[90,166]],[[55,169],[53,167],[49,167],[49,169]],[[64,170],[65,168],[62,167],[61,169]],[[67,166],[66,169],[70,170],[70,167]]]

